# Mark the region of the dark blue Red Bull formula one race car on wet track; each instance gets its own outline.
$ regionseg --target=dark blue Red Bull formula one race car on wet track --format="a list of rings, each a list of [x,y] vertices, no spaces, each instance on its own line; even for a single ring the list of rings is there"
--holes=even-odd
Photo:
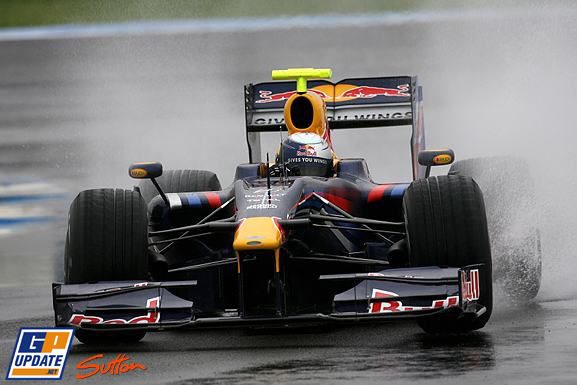
[[[416,77],[318,80],[330,75],[280,70],[282,82],[245,87],[250,162],[225,189],[212,172],[137,163],[134,190],[81,192],[56,325],[85,343],[400,318],[427,332],[482,328],[493,301],[483,194],[457,171],[429,176],[454,154],[425,150]],[[336,156],[328,125],[411,126],[414,180],[376,184],[363,159]],[[279,130],[274,162],[261,162],[260,133]]]

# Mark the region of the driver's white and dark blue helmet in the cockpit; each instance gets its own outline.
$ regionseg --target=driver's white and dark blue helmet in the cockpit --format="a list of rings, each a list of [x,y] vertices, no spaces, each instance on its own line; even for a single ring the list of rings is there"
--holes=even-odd
[[[330,177],[333,151],[321,136],[309,132],[286,138],[277,154],[276,163],[284,165],[291,175]]]

